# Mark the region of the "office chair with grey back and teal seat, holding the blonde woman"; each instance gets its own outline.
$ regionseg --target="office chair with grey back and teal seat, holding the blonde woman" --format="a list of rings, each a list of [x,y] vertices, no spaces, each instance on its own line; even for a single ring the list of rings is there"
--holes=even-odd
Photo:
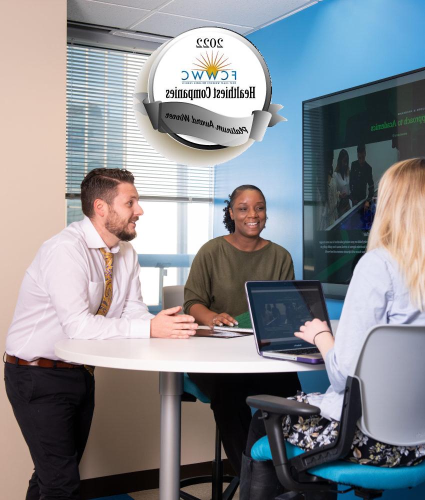
[[[252,446],[251,456],[271,459],[279,481],[290,490],[277,498],[336,498],[337,485],[344,484],[357,496],[371,499],[385,489],[410,488],[425,481],[425,461],[387,468],[341,460],[350,449],[356,425],[365,434],[390,444],[425,442],[423,352],[425,326],[371,328],[354,372],[347,377],[338,439],[311,451],[285,442],[281,422],[285,414],[316,414],[316,406],[282,397],[248,397],[249,405],[261,409],[267,431]]]

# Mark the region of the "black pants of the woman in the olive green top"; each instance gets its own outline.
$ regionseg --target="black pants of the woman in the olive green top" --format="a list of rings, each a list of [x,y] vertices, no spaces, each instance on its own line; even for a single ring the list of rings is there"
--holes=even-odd
[[[189,377],[211,401],[224,451],[237,475],[251,421],[245,399],[255,394],[293,396],[301,388],[296,372],[189,373]]]

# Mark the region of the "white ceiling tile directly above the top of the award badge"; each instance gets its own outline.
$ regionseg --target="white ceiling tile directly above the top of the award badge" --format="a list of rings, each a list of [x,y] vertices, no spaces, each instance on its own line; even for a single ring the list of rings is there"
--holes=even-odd
[[[226,24],[223,22],[209,22],[202,19],[165,14],[163,12],[155,12],[147,19],[144,19],[133,26],[132,29],[148,33],[163,34],[166,36],[176,36],[183,31],[187,31],[188,29],[202,26],[219,26],[232,29],[233,31],[241,34],[251,29],[250,26]]]

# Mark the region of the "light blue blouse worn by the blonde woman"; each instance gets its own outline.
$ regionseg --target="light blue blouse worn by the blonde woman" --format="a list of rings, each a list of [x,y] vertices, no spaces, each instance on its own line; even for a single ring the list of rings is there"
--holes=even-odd
[[[423,324],[396,261],[383,248],[366,252],[355,266],[348,286],[335,344],[326,354],[330,386],[324,394],[308,394],[308,402],[320,407],[320,414],[339,420],[346,377],[353,373],[364,337],[376,324]]]

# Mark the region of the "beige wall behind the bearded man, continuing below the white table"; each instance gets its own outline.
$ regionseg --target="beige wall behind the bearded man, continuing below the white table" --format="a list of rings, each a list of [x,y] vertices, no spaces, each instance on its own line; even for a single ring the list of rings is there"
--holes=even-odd
[[[65,226],[66,1],[0,0],[1,343],[25,268]],[[96,372],[96,409],[83,478],[159,465],[157,373]],[[0,484],[21,500],[31,459],[0,384]],[[185,403],[182,463],[209,460],[214,428],[207,405]]]

